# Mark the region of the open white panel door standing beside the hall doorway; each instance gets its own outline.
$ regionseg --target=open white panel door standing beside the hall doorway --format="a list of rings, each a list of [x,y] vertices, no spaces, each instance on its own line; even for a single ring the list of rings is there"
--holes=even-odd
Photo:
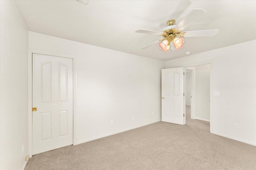
[[[184,68],[162,69],[162,121],[184,125]]]

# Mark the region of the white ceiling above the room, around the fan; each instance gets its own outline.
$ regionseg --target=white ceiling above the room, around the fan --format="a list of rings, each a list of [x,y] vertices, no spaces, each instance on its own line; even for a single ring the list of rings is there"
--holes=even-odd
[[[29,31],[96,45],[134,55],[168,61],[256,39],[256,1],[139,1],[139,0],[16,0]],[[207,14],[184,29],[220,29],[215,37],[184,38],[180,51],[162,52],[160,39],[135,33],[137,29],[162,31],[166,21],[179,23],[194,8]]]

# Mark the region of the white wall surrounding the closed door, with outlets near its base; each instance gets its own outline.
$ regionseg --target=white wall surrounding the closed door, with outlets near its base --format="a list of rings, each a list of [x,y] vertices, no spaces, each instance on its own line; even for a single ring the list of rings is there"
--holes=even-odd
[[[78,144],[160,121],[163,61],[34,32],[28,46],[77,56]]]

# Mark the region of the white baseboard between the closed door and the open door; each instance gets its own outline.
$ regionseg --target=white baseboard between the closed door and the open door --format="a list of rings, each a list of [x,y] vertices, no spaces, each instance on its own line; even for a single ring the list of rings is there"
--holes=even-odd
[[[100,135],[100,136],[92,137],[92,138],[89,138],[89,139],[84,139],[84,140],[81,140],[81,141],[77,141],[76,144],[78,145],[78,144],[81,144],[81,143],[93,141],[93,140],[95,140],[95,139],[100,139],[100,138],[102,138],[102,137],[107,137],[107,136],[114,135],[114,134],[117,134],[117,133],[129,131],[129,130],[132,130],[132,129],[136,129],[136,128],[138,128],[138,127],[142,127],[142,126],[146,126],[146,125],[149,125],[149,124],[152,124],[152,123],[156,123],[156,122],[158,122],[158,121],[161,121],[161,119],[158,119],[158,120],[155,120],[155,121],[151,121],[151,122],[148,122],[148,123],[144,123],[144,124],[142,124],[142,125],[130,127],[130,128],[127,128],[127,129],[122,129],[122,130],[120,130],[120,131],[115,131],[115,132],[112,132],[112,133],[107,133],[107,134],[104,134],[104,135]]]

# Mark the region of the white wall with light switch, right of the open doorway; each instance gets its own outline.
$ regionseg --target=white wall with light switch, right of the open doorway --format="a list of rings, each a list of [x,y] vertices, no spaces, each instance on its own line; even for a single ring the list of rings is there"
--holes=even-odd
[[[166,62],[166,68],[213,62],[213,133],[256,145],[256,40]],[[239,124],[239,129],[235,124]]]

